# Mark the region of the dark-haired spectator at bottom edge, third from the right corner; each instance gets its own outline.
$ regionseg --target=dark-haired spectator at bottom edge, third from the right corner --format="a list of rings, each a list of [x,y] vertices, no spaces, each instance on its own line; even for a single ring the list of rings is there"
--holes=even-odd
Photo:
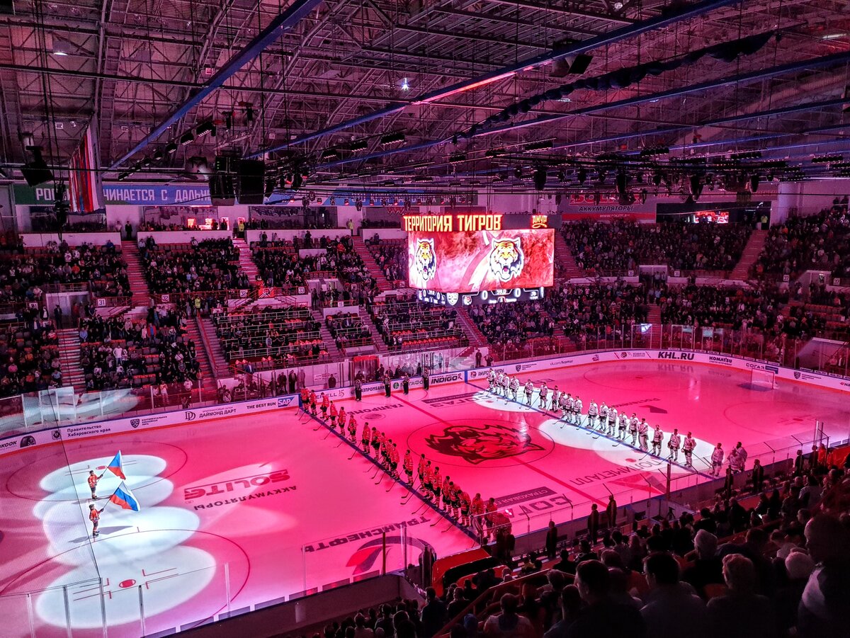
[[[679,582],[679,565],[670,554],[656,552],[643,562],[650,600],[640,610],[654,638],[706,636],[706,603]]]

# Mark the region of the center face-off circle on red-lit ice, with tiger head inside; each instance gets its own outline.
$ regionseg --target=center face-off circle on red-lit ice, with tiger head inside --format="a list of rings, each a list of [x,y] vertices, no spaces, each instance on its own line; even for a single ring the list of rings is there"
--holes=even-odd
[[[536,427],[493,419],[435,421],[407,438],[407,446],[432,463],[449,466],[507,467],[531,463],[554,449]]]

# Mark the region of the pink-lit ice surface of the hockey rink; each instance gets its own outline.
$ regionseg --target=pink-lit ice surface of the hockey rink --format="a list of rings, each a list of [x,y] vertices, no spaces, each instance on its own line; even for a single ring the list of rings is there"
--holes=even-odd
[[[794,437],[811,440],[816,421],[833,440],[850,432],[847,392],[793,381],[751,387],[748,372],[711,365],[621,361],[530,379],[578,394],[586,412],[594,399],[646,416],[665,443],[674,427],[694,432],[697,471],[671,466],[674,488],[710,478],[698,459],[717,442],[731,449],[741,441],[749,468],[756,457],[793,455]],[[470,495],[495,497],[514,534],[549,517],[583,517],[592,502],[604,509],[609,494],[627,506],[663,493],[665,460],[558,421],[537,407],[536,392],[529,408],[486,388],[479,379],[337,405],[356,415],[358,439],[368,421],[401,455],[425,454]],[[93,543],[86,477],[118,449],[141,511],[106,505]],[[293,409],[8,455],[0,469],[2,633],[66,635],[67,600],[73,635],[100,635],[104,616],[111,636],[156,635],[379,572],[382,532],[388,570],[416,563],[422,547],[447,556],[474,545],[376,471]],[[119,482],[105,474],[99,495]]]

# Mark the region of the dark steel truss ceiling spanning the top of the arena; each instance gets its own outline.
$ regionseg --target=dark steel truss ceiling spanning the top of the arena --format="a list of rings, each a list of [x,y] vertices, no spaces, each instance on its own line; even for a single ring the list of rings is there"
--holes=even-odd
[[[850,124],[842,102],[850,102],[845,0],[314,1],[268,47],[249,49],[247,63],[198,104],[193,96],[290,5],[15,0],[14,7],[0,15],[7,168],[26,161],[22,133],[62,165],[93,116],[107,178],[206,122],[215,124],[214,137],[180,145],[132,178],[183,178],[189,158],[269,149],[272,165],[309,173],[317,184],[489,179],[523,163],[532,143],[546,152],[524,163],[553,171],[600,156],[627,163],[665,147],[670,157],[761,150],[805,174],[813,155],[850,158],[842,127]],[[683,9],[692,14],[676,18]],[[665,16],[674,17],[642,28]],[[566,82],[765,31],[780,37],[732,62],[700,59],[623,88],[578,90],[472,138],[455,137]],[[585,52],[586,71],[564,75],[573,58],[551,60],[594,38],[602,43]],[[776,71],[759,73],[768,70]],[[461,89],[444,90],[452,87]],[[173,117],[181,104],[191,106]],[[146,140],[165,123],[165,133]],[[400,144],[382,144],[388,133],[403,133]],[[353,141],[361,148],[350,150]],[[493,149],[502,155],[488,155]]]

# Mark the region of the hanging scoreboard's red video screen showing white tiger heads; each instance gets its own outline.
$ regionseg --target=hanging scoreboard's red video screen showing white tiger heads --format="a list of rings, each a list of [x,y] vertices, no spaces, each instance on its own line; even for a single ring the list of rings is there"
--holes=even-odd
[[[407,263],[412,288],[476,293],[553,285],[553,229],[411,231]]]

